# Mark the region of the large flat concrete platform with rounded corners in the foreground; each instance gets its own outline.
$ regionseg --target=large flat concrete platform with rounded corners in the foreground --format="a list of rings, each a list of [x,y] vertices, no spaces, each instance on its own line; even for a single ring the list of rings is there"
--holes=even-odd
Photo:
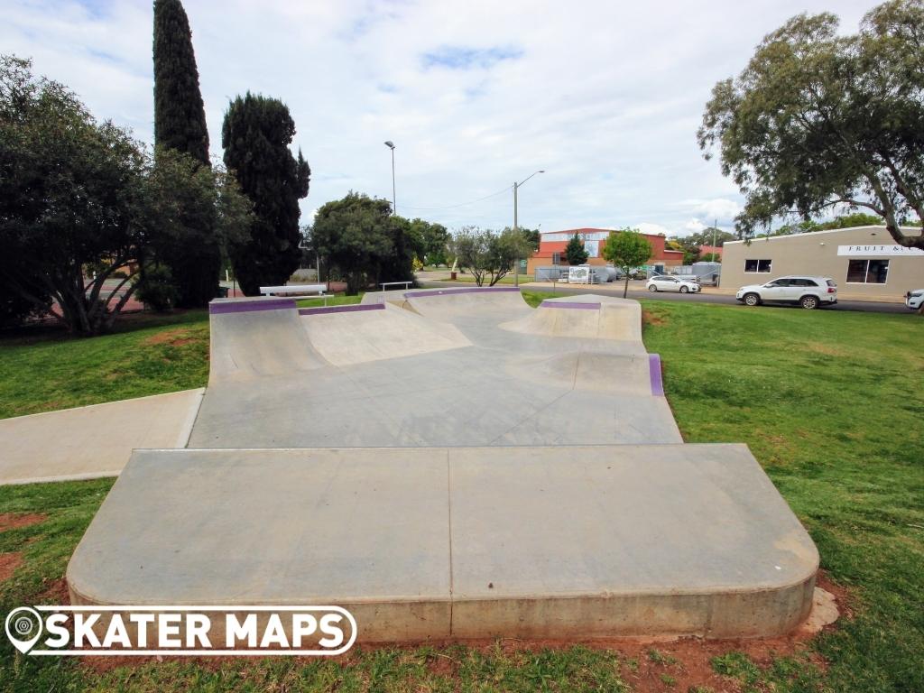
[[[778,636],[819,556],[744,445],[141,450],[75,604],[337,604],[360,641]]]

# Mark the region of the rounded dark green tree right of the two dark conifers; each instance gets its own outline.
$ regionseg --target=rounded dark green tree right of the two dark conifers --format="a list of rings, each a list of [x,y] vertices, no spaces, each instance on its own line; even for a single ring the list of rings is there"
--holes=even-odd
[[[346,293],[356,294],[373,282],[413,281],[409,225],[392,216],[389,201],[350,192],[322,205],[310,242],[322,262],[346,280]]]

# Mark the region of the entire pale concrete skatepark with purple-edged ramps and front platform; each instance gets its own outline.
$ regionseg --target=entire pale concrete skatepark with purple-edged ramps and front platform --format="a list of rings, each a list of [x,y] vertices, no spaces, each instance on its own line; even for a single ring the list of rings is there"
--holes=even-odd
[[[85,604],[337,604],[359,641],[784,634],[819,557],[740,444],[685,444],[638,302],[216,300],[184,444],[137,449]],[[136,445],[138,447],[138,445]]]

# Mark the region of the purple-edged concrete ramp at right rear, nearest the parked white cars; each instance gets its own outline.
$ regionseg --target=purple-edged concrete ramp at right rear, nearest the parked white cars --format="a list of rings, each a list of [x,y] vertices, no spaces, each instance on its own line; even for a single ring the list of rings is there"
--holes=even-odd
[[[543,300],[536,310],[502,322],[510,332],[554,337],[608,339],[641,345],[638,301],[585,294]],[[644,348],[644,347],[642,347]]]

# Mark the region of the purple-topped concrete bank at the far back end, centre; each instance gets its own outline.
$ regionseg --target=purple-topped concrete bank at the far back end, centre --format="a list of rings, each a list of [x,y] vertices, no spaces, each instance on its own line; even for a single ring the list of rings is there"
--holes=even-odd
[[[404,296],[411,310],[448,322],[454,318],[472,316],[490,320],[498,313],[512,318],[532,310],[515,286],[423,289],[407,291]]]

